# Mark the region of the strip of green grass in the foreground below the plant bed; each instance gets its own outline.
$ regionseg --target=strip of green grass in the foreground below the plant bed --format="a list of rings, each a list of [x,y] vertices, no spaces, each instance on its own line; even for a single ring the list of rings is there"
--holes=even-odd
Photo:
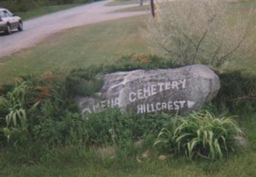
[[[71,153],[64,151],[63,153]],[[73,151],[73,153],[77,153]],[[152,158],[139,164],[133,158],[122,161],[101,160],[92,157],[70,159],[70,155],[58,157],[61,160],[47,160],[36,165],[11,165],[6,176],[254,176],[256,153],[234,155],[223,162],[196,161],[170,158],[159,161]],[[73,155],[74,156],[74,155]],[[92,155],[93,156],[93,155]],[[66,157],[66,158],[65,158]],[[47,164],[48,163],[48,164]]]

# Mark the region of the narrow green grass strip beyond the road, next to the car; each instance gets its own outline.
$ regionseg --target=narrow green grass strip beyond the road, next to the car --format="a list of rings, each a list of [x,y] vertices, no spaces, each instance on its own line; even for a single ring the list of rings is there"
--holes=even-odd
[[[35,10],[29,10],[27,12],[18,12],[15,15],[19,15],[23,20],[32,19],[35,17],[40,17],[42,15],[58,12],[60,10],[66,10],[68,8],[73,8],[81,5],[82,3],[75,4],[63,4],[63,5],[52,5],[52,6],[42,6],[40,8],[36,8]]]

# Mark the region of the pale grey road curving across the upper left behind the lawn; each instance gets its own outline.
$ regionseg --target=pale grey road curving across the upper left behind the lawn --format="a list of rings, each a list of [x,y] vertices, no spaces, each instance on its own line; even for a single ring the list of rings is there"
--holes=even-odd
[[[111,13],[114,10],[136,6],[138,4],[105,6],[108,2],[109,1],[100,1],[97,3],[85,4],[77,6],[76,8],[24,21],[24,31],[21,33],[17,32],[12,33],[12,35],[0,36],[0,58],[18,52],[19,50],[32,47],[45,37],[68,28],[145,13]]]

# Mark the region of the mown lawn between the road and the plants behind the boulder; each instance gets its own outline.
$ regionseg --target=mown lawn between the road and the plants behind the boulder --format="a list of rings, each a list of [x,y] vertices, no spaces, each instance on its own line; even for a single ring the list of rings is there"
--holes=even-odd
[[[98,65],[125,54],[148,52],[139,30],[143,22],[143,17],[113,20],[58,33],[32,49],[1,58],[0,82],[26,73]]]

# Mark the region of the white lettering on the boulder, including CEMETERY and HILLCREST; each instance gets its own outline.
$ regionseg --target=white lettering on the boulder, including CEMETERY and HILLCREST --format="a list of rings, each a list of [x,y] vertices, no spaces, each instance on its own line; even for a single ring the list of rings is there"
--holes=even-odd
[[[138,100],[147,100],[149,97],[157,95],[157,93],[161,93],[163,91],[180,91],[185,88],[186,79],[169,82],[158,82],[156,84],[152,84],[151,86],[130,92],[128,94],[128,98],[129,102],[132,104]],[[137,113],[140,114],[145,112],[179,111],[183,108],[191,108],[193,105],[195,105],[195,102],[190,100],[168,100],[167,102],[150,102],[138,104],[136,108]],[[82,114],[85,114],[86,112],[97,112],[108,107],[120,107],[119,98],[97,102],[97,104],[83,109]]]

